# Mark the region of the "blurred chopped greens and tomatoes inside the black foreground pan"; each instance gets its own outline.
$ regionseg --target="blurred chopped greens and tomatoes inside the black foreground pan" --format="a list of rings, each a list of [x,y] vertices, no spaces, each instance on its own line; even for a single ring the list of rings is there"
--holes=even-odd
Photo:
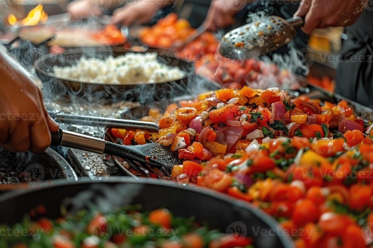
[[[8,230],[26,232],[13,235]],[[0,231],[0,247],[12,248],[254,248],[251,238],[210,230],[194,217],[174,217],[164,208],[141,212],[139,206],[108,214],[82,210],[64,218],[37,221],[28,216],[11,227],[0,226]]]

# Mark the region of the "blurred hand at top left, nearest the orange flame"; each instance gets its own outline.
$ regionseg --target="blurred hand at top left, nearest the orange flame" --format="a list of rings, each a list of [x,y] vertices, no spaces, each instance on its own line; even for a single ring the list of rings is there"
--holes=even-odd
[[[96,0],[75,0],[66,6],[66,10],[74,19],[100,16],[102,15],[102,11],[95,2]]]

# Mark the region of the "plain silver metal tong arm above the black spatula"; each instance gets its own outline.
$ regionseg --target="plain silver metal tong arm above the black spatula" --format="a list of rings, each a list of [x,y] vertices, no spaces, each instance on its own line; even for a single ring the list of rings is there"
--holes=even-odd
[[[142,129],[149,132],[158,132],[159,126],[153,122],[143,122],[140,120],[124,120],[116,118],[84,116],[84,115],[69,115],[57,113],[56,119],[63,123],[98,126],[104,128],[123,128],[123,129]]]

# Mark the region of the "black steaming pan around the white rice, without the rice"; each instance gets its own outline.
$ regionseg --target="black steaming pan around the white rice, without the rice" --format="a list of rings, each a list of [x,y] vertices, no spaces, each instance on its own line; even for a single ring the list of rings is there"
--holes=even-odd
[[[51,90],[54,93],[93,97],[95,99],[116,98],[117,100],[132,100],[141,103],[170,99],[187,94],[186,85],[190,81],[196,80],[193,75],[194,67],[191,63],[162,54],[158,56],[160,62],[172,67],[179,67],[182,71],[185,71],[186,76],[179,80],[162,83],[102,84],[57,78],[53,74],[54,65],[70,66],[76,64],[82,56],[103,59],[109,55],[117,57],[127,52],[119,47],[71,49],[60,55],[49,54],[43,56],[35,61],[34,67],[41,81],[45,85],[50,83]]]

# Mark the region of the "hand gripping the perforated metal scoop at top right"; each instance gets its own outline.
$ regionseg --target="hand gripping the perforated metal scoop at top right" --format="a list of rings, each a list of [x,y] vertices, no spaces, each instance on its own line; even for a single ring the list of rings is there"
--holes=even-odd
[[[302,0],[294,16],[304,17],[303,31],[352,25],[369,0]]]

